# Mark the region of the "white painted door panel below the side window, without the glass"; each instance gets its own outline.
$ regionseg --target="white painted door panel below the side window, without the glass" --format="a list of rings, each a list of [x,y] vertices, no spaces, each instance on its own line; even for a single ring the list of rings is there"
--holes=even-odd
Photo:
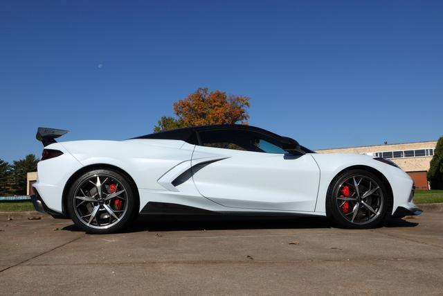
[[[196,146],[196,155],[219,161],[195,168],[201,195],[230,208],[314,211],[320,171],[311,155],[283,155]]]

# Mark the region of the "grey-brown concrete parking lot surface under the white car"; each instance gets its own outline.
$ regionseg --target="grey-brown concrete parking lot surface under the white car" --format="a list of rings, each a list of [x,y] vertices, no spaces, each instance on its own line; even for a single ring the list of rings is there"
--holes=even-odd
[[[368,230],[323,218],[152,216],[89,235],[71,220],[3,213],[0,294],[441,295],[442,215]]]

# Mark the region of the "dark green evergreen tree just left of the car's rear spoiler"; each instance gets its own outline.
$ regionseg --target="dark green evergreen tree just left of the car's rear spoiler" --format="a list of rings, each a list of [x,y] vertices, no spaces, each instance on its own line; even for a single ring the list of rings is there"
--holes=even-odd
[[[37,171],[38,159],[35,155],[26,155],[24,159],[12,164],[12,194],[26,195],[26,173]]]

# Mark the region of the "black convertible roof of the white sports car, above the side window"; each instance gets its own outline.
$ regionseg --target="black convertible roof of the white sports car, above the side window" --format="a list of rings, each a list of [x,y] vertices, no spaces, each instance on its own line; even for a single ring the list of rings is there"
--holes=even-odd
[[[264,130],[262,128],[256,128],[251,125],[242,124],[219,124],[219,125],[199,125],[191,126],[189,128],[177,128],[175,130],[166,130],[165,132],[154,132],[153,134],[145,134],[141,137],[135,137],[134,139],[169,139],[169,140],[182,140],[191,144],[198,144],[196,132],[204,130],[250,130],[255,132],[261,132],[262,134],[267,134],[270,137],[280,138],[278,134],[269,132],[269,130]]]

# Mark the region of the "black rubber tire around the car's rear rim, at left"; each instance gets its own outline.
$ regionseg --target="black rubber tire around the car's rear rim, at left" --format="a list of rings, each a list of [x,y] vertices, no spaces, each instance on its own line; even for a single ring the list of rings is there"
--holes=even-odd
[[[121,194],[125,194],[125,211],[122,211],[123,213],[121,214],[116,214],[116,215],[121,215],[118,216],[119,220],[115,218],[114,223],[111,223],[111,218],[114,218],[114,216],[111,216],[111,213],[108,212],[105,208],[104,205],[98,203],[98,202],[86,202],[89,203],[89,207],[98,207],[98,212],[96,212],[96,215],[100,212],[105,212],[108,213],[109,215],[109,225],[106,227],[106,225],[104,224],[104,226],[100,226],[99,220],[98,218],[96,218],[96,224],[98,225],[93,225],[93,221],[91,222],[90,225],[87,225],[87,221],[82,220],[79,210],[75,210],[75,202],[77,201],[75,199],[75,194],[79,192],[80,186],[84,186],[84,184],[87,184],[87,182],[89,182],[89,180],[91,180],[91,178],[96,178],[97,176],[100,176],[100,178],[103,177],[109,177],[111,178],[111,180],[114,180],[114,182],[118,182],[118,184],[120,184],[120,186],[123,186],[123,188],[125,189],[124,193]],[[91,182],[90,182],[91,183]],[[91,186],[91,185],[90,185]],[[92,185],[93,186],[93,185]],[[105,184],[103,184],[103,186],[105,186]],[[82,175],[78,176],[77,180],[75,180],[75,182],[73,182],[73,184],[71,185],[71,188],[69,189],[69,193],[66,196],[67,200],[66,200],[66,205],[67,205],[67,210],[69,213],[69,216],[71,217],[71,219],[73,220],[73,222],[75,223],[75,225],[77,225],[78,227],[80,227],[80,229],[84,230],[85,232],[89,233],[89,234],[109,234],[109,233],[114,233],[114,232],[120,232],[121,230],[125,229],[125,227],[127,227],[130,223],[132,223],[134,221],[134,218],[136,218],[137,214],[138,214],[138,195],[136,195],[136,188],[134,188],[135,186],[132,186],[132,183],[128,180],[128,178],[121,174],[118,173],[117,171],[113,171],[110,169],[95,169],[92,171],[89,171],[87,173],[83,173]],[[96,194],[98,194],[98,187],[96,187]],[[101,186],[100,186],[101,188]],[[105,189],[103,189],[105,190]],[[91,190],[92,191],[92,190]],[[104,193],[102,193],[104,194]],[[109,195],[109,194],[108,194]],[[85,195],[86,196],[86,195]],[[123,198],[122,198],[123,200]],[[112,200],[107,201],[107,205],[111,206],[111,204],[109,204]],[[81,202],[81,201],[80,201]],[[103,200],[101,200],[101,202],[104,202]],[[104,202],[105,203],[105,202]],[[127,203],[127,204],[126,204]],[[88,204],[87,204],[88,205]],[[77,204],[77,207],[78,204]],[[83,205],[84,207],[84,205]],[[108,207],[109,209],[109,207]],[[92,213],[91,213],[92,214]],[[115,214],[115,212],[114,212]],[[87,219],[87,218],[85,218]]]

